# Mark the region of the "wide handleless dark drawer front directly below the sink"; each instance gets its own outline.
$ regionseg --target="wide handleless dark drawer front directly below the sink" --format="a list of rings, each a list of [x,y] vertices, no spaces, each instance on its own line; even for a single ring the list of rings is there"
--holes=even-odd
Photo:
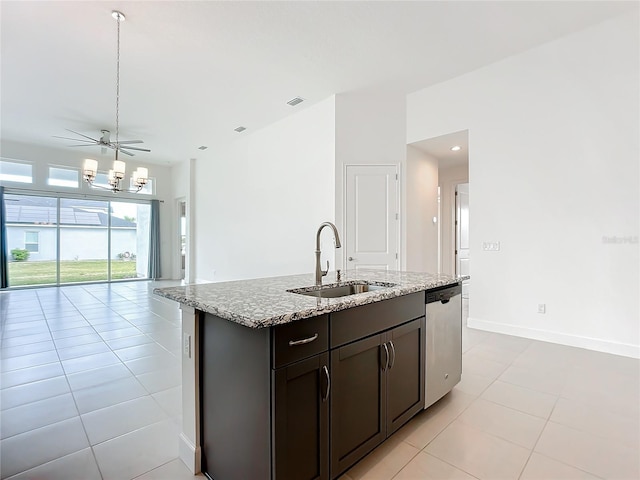
[[[369,303],[331,314],[330,348],[424,316],[424,292]]]

